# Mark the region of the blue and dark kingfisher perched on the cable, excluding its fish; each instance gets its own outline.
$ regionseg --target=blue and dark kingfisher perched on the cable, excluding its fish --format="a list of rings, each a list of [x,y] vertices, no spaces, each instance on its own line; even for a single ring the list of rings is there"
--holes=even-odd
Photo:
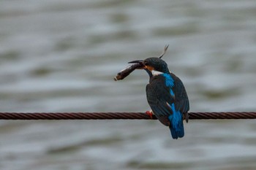
[[[169,71],[167,63],[162,55],[146,58],[145,60],[131,61],[140,63],[149,76],[146,85],[146,97],[151,111],[146,114],[157,119],[170,128],[173,139],[184,136],[184,124],[189,120],[189,98],[181,80]]]

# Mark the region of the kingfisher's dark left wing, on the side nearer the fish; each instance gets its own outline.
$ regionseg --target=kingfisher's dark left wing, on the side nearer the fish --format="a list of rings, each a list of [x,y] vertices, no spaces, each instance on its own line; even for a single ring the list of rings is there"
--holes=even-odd
[[[173,114],[170,104],[174,102],[174,98],[170,94],[170,88],[165,86],[165,77],[158,75],[152,78],[154,80],[151,80],[151,83],[146,86],[148,104],[157,119],[162,124],[169,126],[168,117]]]

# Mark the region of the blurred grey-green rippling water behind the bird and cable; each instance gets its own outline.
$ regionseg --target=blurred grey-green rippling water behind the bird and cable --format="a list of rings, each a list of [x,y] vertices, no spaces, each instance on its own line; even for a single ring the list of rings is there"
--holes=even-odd
[[[1,1],[1,112],[144,112],[157,56],[192,112],[255,111],[256,1]],[[254,120],[0,122],[0,169],[255,169]]]

